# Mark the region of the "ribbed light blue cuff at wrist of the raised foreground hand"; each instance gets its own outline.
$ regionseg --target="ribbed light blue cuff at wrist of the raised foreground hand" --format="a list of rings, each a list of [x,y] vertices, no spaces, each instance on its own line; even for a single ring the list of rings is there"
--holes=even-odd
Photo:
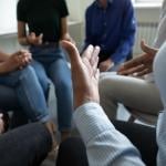
[[[73,118],[85,143],[104,131],[115,129],[97,103],[91,102],[81,105],[75,110]]]

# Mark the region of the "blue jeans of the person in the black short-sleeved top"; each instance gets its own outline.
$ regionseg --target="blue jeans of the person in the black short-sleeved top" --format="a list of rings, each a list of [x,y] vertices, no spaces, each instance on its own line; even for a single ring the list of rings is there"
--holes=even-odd
[[[52,46],[31,46],[30,52],[34,60],[32,66],[40,82],[42,83],[45,79],[50,77],[54,84],[58,98],[59,131],[70,131],[73,97],[71,72],[65,60],[65,54],[61,48]]]

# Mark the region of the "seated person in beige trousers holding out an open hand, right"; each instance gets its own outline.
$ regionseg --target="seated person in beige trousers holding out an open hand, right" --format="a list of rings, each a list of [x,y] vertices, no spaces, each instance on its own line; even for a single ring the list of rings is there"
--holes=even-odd
[[[166,40],[166,0],[160,10],[160,20],[154,39],[154,48],[159,49]],[[101,105],[110,118],[117,118],[118,103],[123,104],[129,113],[153,115],[157,117],[163,110],[159,91],[153,79],[154,51],[142,41],[143,53],[120,66],[117,74],[105,72],[101,74],[100,96]],[[156,124],[156,122],[154,122]]]

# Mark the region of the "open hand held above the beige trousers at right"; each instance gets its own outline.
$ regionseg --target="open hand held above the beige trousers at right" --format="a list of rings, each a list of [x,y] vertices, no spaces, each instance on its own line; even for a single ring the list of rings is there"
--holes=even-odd
[[[136,73],[136,76],[143,76],[152,72],[153,61],[158,50],[148,46],[144,41],[141,42],[141,48],[145,53],[124,63],[120,68],[118,74],[132,75]]]

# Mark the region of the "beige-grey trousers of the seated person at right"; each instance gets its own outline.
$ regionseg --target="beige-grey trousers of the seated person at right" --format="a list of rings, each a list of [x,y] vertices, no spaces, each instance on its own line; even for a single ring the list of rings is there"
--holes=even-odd
[[[118,103],[155,116],[163,110],[158,89],[153,82],[105,72],[101,74],[98,87],[101,105],[110,118],[116,118]]]

